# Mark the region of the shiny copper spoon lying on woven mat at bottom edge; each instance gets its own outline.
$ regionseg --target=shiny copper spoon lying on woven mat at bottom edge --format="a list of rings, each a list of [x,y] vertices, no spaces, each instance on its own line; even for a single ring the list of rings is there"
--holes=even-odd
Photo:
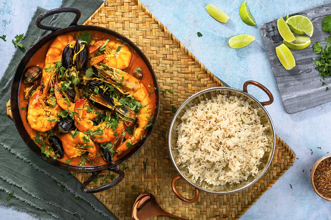
[[[178,217],[163,210],[154,195],[150,193],[143,193],[138,196],[132,208],[132,220],[148,220],[155,216],[167,216],[179,220],[189,220]]]

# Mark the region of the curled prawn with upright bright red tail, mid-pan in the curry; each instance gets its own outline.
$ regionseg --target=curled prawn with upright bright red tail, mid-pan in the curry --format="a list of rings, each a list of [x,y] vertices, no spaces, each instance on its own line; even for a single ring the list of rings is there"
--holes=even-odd
[[[124,122],[122,119],[118,119],[117,125],[109,126],[107,121],[94,125],[93,121],[88,118],[83,118],[84,99],[81,99],[75,103],[75,111],[78,115],[74,114],[75,126],[81,132],[92,133],[91,139],[98,143],[112,142],[116,140],[116,137],[120,135],[124,130]],[[107,115],[110,117],[110,115]],[[116,121],[116,118],[115,118]],[[116,128],[113,130],[113,127]]]

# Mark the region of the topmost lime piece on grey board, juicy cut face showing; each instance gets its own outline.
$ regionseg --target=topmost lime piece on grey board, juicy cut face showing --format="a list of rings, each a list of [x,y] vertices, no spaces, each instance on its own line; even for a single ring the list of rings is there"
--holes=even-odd
[[[309,18],[302,15],[291,16],[286,20],[286,23],[295,34],[307,34],[311,37],[314,32],[314,26]]]

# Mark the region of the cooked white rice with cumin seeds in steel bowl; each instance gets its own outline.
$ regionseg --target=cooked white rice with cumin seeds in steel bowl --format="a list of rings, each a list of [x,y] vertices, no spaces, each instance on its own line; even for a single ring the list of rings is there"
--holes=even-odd
[[[186,110],[177,127],[177,165],[194,182],[239,183],[258,173],[268,139],[260,116],[247,101],[217,95]]]

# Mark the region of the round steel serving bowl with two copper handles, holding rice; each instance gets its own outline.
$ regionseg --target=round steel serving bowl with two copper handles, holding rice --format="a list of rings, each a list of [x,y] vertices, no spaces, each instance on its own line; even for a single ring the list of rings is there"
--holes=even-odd
[[[262,89],[269,97],[269,101],[260,103],[256,98],[254,98],[252,95],[247,93],[247,85],[252,84],[258,86],[260,89]],[[184,112],[189,109],[190,107],[200,103],[203,100],[211,99],[212,97],[215,97],[218,94],[222,94],[225,96],[238,96],[242,97],[245,101],[248,101],[250,106],[257,109],[258,115],[261,117],[261,123],[266,128],[266,136],[269,140],[269,146],[267,151],[265,152],[263,158],[261,159],[261,163],[258,166],[259,172],[256,176],[249,176],[247,180],[243,180],[238,184],[225,184],[223,186],[213,186],[208,184],[207,182],[197,182],[191,178],[191,174],[189,174],[187,168],[184,168],[180,164],[177,164],[175,161],[175,158],[178,156],[178,151],[176,150],[176,143],[177,143],[177,126],[181,123],[181,117],[183,116]],[[270,91],[264,87],[262,84],[256,82],[256,81],[247,81],[243,85],[243,91],[235,88],[230,87],[213,87],[208,88],[205,90],[202,90],[190,98],[188,98],[177,110],[175,113],[171,124],[169,128],[168,133],[168,147],[169,147],[169,154],[172,161],[172,164],[175,166],[177,172],[180,174],[179,176],[176,176],[172,179],[171,188],[174,192],[174,194],[182,201],[187,203],[194,203],[199,198],[199,190],[203,190],[205,192],[213,193],[213,194],[230,194],[235,193],[238,191],[241,191],[243,189],[246,189],[247,187],[253,185],[256,181],[260,179],[260,177],[266,172],[268,167],[271,164],[272,157],[275,151],[275,142],[276,142],[276,135],[274,126],[272,124],[270,115],[265,110],[263,106],[270,105],[273,102],[273,96],[270,93]],[[196,196],[193,199],[187,199],[184,198],[179,194],[175,187],[176,180],[183,178],[185,179],[189,184],[195,187],[195,193]]]

